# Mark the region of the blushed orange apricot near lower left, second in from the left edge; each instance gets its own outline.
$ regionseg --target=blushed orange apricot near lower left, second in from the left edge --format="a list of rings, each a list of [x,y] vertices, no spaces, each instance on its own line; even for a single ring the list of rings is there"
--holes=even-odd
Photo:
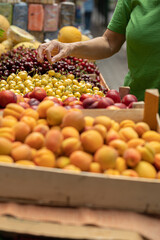
[[[14,161],[31,160],[32,158],[31,148],[26,144],[21,144],[20,146],[12,149],[11,157],[14,159]]]

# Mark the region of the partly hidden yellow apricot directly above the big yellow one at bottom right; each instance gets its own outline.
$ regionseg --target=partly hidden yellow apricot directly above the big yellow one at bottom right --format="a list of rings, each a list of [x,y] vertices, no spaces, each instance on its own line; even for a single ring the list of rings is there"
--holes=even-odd
[[[150,143],[146,143],[144,146],[138,146],[136,149],[140,152],[142,160],[154,163],[155,151]]]

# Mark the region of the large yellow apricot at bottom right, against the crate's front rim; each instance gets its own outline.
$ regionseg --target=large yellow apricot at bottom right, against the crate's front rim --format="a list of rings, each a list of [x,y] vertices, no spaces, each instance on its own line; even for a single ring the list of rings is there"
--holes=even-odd
[[[157,176],[155,167],[146,161],[140,161],[134,170],[138,173],[139,177],[156,178]]]

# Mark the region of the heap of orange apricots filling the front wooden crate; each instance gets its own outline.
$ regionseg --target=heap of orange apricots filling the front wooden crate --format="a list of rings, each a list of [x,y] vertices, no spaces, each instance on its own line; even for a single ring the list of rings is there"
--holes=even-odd
[[[10,103],[0,118],[0,162],[160,179],[160,133],[51,100],[37,110]]]

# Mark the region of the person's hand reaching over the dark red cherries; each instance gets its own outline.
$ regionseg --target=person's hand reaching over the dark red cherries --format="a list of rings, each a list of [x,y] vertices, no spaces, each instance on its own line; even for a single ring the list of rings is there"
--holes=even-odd
[[[50,63],[57,62],[62,57],[70,55],[72,50],[72,44],[70,43],[61,43],[56,40],[52,40],[49,43],[41,44],[37,49],[37,60],[42,62],[44,55],[46,55]]]

